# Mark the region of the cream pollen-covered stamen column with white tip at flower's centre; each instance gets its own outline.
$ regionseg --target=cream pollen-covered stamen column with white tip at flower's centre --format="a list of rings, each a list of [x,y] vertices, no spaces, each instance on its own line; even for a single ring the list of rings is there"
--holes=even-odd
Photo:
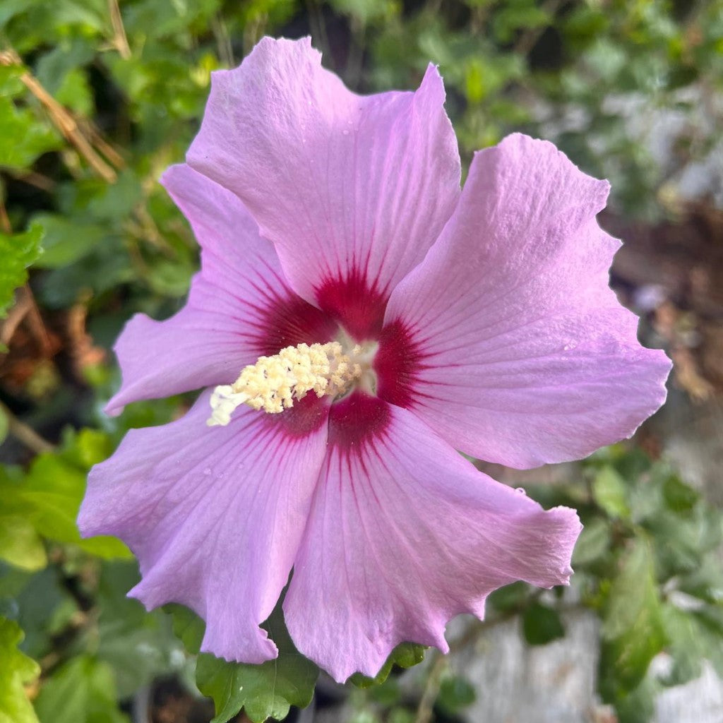
[[[360,376],[361,366],[343,353],[338,341],[287,346],[278,354],[261,356],[256,364],[249,364],[233,384],[216,387],[207,424],[225,426],[241,404],[278,414],[311,391],[318,397],[337,396]]]

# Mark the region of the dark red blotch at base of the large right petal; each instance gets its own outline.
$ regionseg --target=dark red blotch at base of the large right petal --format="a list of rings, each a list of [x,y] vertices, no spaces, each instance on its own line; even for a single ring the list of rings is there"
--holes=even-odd
[[[374,360],[377,372],[377,394],[384,401],[408,408],[416,395],[414,382],[424,369],[427,354],[419,348],[414,334],[398,319],[386,325],[379,337],[379,349]]]

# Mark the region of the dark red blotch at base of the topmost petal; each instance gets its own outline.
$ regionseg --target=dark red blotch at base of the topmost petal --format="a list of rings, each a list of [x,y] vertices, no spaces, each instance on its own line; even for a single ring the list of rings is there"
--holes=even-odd
[[[338,321],[355,341],[375,338],[382,330],[389,297],[364,273],[351,271],[345,278],[327,278],[316,289],[320,308]]]

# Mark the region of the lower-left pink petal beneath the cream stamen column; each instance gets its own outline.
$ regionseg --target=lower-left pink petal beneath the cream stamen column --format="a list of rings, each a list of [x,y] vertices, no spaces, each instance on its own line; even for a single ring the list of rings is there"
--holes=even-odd
[[[206,620],[203,650],[258,663],[276,656],[258,626],[294,562],[328,407],[309,397],[283,419],[244,408],[209,428],[208,400],[177,422],[128,432],[90,471],[78,524],[131,547],[142,573],[131,594],[148,609],[187,605]]]

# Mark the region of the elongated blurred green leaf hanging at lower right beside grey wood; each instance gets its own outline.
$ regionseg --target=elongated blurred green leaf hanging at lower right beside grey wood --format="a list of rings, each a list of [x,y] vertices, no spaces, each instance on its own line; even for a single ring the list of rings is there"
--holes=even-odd
[[[615,703],[636,688],[667,636],[649,544],[637,539],[609,589],[602,628],[600,688]]]

